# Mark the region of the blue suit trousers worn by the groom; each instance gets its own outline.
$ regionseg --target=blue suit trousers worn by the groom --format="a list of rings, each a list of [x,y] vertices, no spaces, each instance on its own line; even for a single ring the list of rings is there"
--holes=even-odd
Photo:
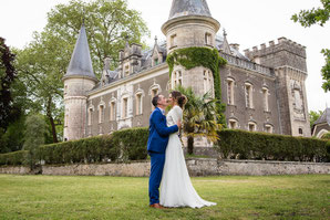
[[[159,203],[159,186],[165,164],[165,154],[148,153],[152,158],[149,176],[149,205]]]

